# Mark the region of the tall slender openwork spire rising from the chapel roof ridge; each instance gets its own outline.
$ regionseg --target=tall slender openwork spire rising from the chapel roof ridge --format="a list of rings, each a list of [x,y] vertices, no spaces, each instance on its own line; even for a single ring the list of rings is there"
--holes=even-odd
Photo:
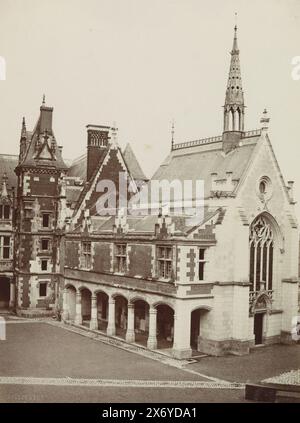
[[[237,42],[237,25],[234,27],[228,82],[224,105],[224,132],[244,131],[244,93],[240,68],[240,51]]]

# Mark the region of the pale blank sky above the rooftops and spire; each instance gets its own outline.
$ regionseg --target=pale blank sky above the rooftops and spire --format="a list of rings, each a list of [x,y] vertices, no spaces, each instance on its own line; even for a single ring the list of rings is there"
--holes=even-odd
[[[237,18],[235,18],[237,13]],[[245,129],[269,136],[300,201],[300,0],[0,0],[1,153],[18,152],[43,94],[64,157],[86,152],[86,125],[116,122],[151,176],[175,142],[222,133],[233,27]],[[298,209],[300,211],[300,208]]]

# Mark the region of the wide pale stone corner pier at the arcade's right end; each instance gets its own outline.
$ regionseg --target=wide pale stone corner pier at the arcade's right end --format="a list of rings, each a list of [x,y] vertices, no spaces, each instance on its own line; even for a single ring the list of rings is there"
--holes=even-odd
[[[176,358],[188,358],[192,355],[191,349],[191,312],[185,310],[185,304],[176,304],[174,314],[174,342],[173,356]]]

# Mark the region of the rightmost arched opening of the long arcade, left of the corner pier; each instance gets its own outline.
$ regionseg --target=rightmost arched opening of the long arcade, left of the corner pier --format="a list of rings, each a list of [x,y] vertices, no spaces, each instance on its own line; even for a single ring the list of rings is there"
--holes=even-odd
[[[174,310],[166,304],[159,304],[156,309],[157,348],[172,348],[174,340]]]

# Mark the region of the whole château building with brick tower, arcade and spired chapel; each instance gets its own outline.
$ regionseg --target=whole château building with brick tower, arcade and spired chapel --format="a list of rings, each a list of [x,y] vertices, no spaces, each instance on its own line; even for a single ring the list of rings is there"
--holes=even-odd
[[[65,161],[43,101],[32,132],[23,120],[19,156],[0,156],[0,306],[24,316],[59,309],[66,323],[178,358],[290,342],[298,312],[293,182],[280,171],[267,112],[258,129],[245,130],[236,27],[223,113],[220,135],[172,142],[152,178],[203,181],[203,214],[191,225],[172,198],[156,215],[127,213],[120,199],[115,214],[99,213],[101,181],[120,193],[126,175],[127,201],[151,181],[109,126],[88,125],[87,154]]]

